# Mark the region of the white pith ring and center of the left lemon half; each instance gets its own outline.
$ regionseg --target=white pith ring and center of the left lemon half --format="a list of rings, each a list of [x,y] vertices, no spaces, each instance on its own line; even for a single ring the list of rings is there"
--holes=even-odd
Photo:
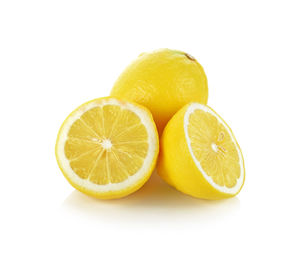
[[[83,113],[87,110],[92,109],[94,107],[103,107],[105,105],[116,105],[121,109],[127,109],[134,112],[139,118],[141,123],[145,126],[148,133],[148,153],[144,159],[144,163],[142,167],[132,176],[129,176],[126,180],[120,183],[108,183],[106,185],[98,185],[89,180],[80,178],[71,168],[69,164],[69,160],[65,156],[64,146],[68,137],[68,132],[72,126],[72,124],[81,117]],[[87,190],[92,190],[94,192],[105,193],[109,191],[120,191],[126,188],[129,188],[136,184],[140,179],[148,174],[151,171],[150,166],[153,162],[153,159],[156,155],[158,140],[155,132],[154,124],[149,117],[149,114],[133,104],[120,102],[113,98],[108,99],[99,99],[92,101],[90,103],[84,104],[79,107],[76,111],[74,111],[64,122],[61,127],[61,131],[59,134],[59,138],[57,140],[57,160],[64,171],[64,174],[76,185],[85,188]],[[109,147],[109,141],[106,141],[103,147]]]

